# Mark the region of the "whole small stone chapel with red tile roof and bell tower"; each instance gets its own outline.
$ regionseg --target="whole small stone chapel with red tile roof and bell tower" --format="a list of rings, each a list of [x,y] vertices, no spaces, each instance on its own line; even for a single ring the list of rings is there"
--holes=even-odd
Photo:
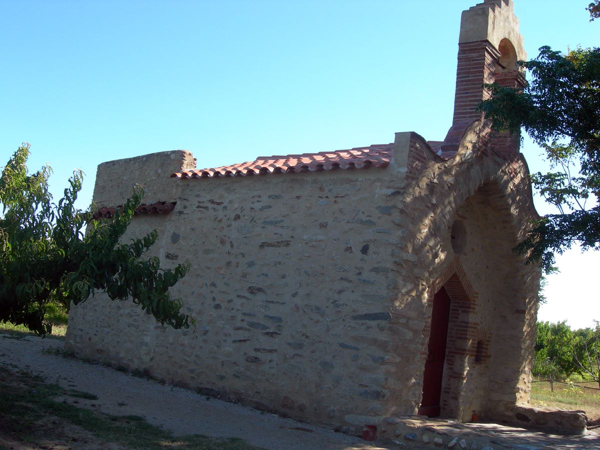
[[[518,136],[475,106],[484,82],[522,86],[525,58],[512,0],[485,1],[463,12],[443,142],[397,133],[202,170],[187,151],[100,164],[100,211],[142,184],[149,214],[128,233],[157,229],[151,253],[191,263],[173,295],[197,326],[96,295],[71,308],[67,348],[347,433],[418,413],[518,422],[539,269],[512,248],[538,216]]]

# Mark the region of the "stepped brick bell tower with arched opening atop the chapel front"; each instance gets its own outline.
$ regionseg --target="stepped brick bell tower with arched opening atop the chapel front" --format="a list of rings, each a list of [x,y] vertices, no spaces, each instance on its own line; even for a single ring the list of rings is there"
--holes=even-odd
[[[512,0],[485,0],[463,11],[458,38],[454,117],[441,147],[442,157],[454,155],[467,128],[484,119],[483,113],[476,110],[478,103],[489,97],[482,87],[484,83],[524,87],[524,71],[519,70],[517,61],[526,59]],[[489,138],[487,148],[481,149],[482,152],[491,149],[506,159],[518,154],[519,136],[491,132],[489,124],[483,122],[482,125],[483,134]]]

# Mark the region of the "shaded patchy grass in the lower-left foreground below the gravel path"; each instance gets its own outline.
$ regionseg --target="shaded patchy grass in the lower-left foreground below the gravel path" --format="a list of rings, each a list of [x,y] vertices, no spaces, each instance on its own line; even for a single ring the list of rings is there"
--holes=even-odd
[[[35,443],[42,437],[47,437],[37,436],[40,423],[49,423],[52,418],[60,418],[89,431],[98,439],[128,448],[256,449],[235,438],[212,439],[197,434],[175,437],[169,431],[148,424],[140,416],[111,416],[56,398],[65,395],[89,400],[96,398],[88,392],[65,390],[30,374],[15,374],[0,368],[0,434],[21,442]],[[63,442],[67,442],[68,436],[64,439]]]

